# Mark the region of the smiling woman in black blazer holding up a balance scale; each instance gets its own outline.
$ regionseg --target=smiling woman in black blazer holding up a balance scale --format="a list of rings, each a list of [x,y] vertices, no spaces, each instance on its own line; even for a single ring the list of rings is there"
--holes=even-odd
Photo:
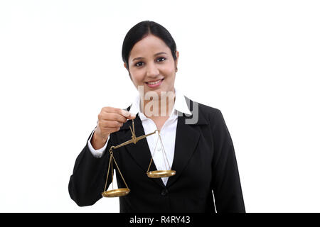
[[[113,151],[120,212],[245,212],[233,141],[219,109],[196,103],[174,86],[178,51],[169,31],[142,21],[122,46],[124,67],[139,91],[127,109],[102,108],[97,126],[75,161],[69,193],[78,206],[102,198],[111,146],[158,133]],[[165,155],[163,152],[165,150]],[[171,177],[150,178],[150,170],[175,170]],[[165,157],[165,158],[164,158]],[[107,187],[111,182],[108,177]]]

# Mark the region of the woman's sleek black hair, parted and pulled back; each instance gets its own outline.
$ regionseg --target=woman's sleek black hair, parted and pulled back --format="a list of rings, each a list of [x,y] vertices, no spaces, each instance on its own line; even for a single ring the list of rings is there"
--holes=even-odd
[[[166,43],[170,48],[172,57],[176,60],[176,42],[172,38],[164,26],[161,26],[159,23],[154,21],[142,21],[133,26],[124,37],[122,44],[122,60],[127,65],[127,70],[129,71],[129,55],[134,46],[139,40],[142,40],[147,35],[152,34]]]

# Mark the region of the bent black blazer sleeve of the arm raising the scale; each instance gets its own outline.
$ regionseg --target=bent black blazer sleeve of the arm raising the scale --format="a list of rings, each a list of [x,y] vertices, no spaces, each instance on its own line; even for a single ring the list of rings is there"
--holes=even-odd
[[[107,151],[109,151],[112,144],[111,140],[112,134],[102,157],[93,156],[86,143],[85,148],[82,149],[75,160],[73,175],[70,177],[68,189],[71,199],[78,206],[90,206],[102,198],[110,160],[110,153]],[[110,183],[111,177],[108,177],[107,187],[109,187]]]

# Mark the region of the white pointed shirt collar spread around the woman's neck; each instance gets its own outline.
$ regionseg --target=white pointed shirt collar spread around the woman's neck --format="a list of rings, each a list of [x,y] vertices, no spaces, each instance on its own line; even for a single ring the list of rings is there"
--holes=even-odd
[[[183,113],[183,114],[188,114],[191,115],[191,111],[188,108],[188,105],[186,103],[186,99],[183,96],[183,94],[181,93],[181,91],[179,89],[174,88],[174,92],[176,95],[176,100],[174,101],[174,107],[172,109],[171,112],[171,116],[178,116],[177,111]],[[139,93],[134,97],[134,100],[132,101],[132,106],[129,110],[130,113],[132,114],[139,114],[139,117],[141,118],[141,120],[146,119],[146,116],[144,114],[142,114],[142,112],[140,111],[140,95]]]

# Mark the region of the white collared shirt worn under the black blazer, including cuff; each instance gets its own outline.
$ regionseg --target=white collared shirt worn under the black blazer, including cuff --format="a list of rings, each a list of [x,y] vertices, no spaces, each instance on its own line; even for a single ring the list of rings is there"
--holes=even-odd
[[[174,90],[175,90],[175,96],[176,96],[176,100],[174,101],[174,107],[171,111],[169,118],[164,122],[164,125],[162,126],[160,131],[161,140],[164,145],[165,155],[163,153],[163,150],[161,150],[161,141],[159,139],[158,132],[146,137],[146,140],[150,148],[150,153],[151,153],[151,156],[153,155],[153,162],[154,162],[154,165],[156,165],[157,170],[169,170],[172,167],[172,162],[174,161],[174,147],[176,144],[176,126],[178,123],[178,111],[184,114],[191,115],[191,112],[188,109],[188,105],[186,103],[186,99],[184,98],[183,94],[181,94],[181,92],[179,92],[178,89],[176,88]],[[144,133],[148,134],[156,131],[157,129],[156,123],[154,123],[154,121],[152,121],[151,118],[147,118],[140,111],[139,94],[135,96],[129,112],[135,115],[139,114],[139,117],[142,121],[142,126],[144,127]],[[110,136],[107,139],[107,142],[105,143],[103,148],[95,150],[95,148],[93,148],[90,143],[92,135],[93,135],[93,132],[89,140],[87,141],[89,150],[91,151],[92,155],[94,155],[95,157],[101,157],[105,152],[105,148],[107,148],[107,143],[109,142]],[[168,167],[168,162],[170,165],[169,167]],[[162,177],[162,181],[164,182],[164,185],[166,185],[166,182],[168,181],[168,177]]]

